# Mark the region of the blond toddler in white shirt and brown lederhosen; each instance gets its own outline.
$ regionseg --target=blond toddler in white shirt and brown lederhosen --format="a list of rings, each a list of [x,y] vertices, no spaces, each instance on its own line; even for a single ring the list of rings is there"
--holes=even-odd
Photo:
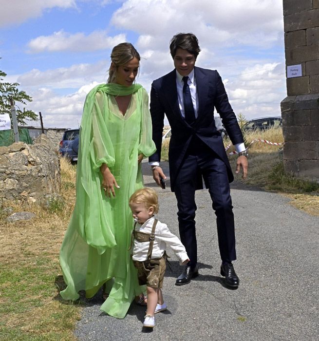
[[[131,195],[129,205],[135,221],[132,259],[137,268],[139,284],[146,284],[148,294],[143,326],[153,328],[154,314],[167,309],[162,295],[166,246],[171,247],[181,265],[187,264],[189,259],[182,242],[169,231],[166,224],[154,217],[154,213],[158,212],[158,197],[154,189],[146,187],[136,190]]]

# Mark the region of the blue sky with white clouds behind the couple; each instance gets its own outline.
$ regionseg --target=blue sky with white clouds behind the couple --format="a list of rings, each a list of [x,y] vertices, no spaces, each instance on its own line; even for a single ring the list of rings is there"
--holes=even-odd
[[[197,36],[196,66],[219,72],[235,114],[281,115],[280,0],[0,0],[0,70],[33,97],[26,109],[41,112],[44,127],[78,128],[85,96],[107,81],[113,46],[135,46],[136,81],[149,93],[173,70],[169,41],[179,32]]]

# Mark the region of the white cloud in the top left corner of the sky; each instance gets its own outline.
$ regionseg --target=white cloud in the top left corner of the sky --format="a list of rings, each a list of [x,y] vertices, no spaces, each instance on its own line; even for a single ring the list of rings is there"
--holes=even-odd
[[[2,0],[0,27],[40,17],[45,9],[75,7],[75,0]]]

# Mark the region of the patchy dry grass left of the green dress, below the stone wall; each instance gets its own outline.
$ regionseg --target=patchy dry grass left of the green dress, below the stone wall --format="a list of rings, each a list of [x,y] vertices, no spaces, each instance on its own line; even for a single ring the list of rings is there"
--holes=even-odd
[[[61,202],[6,203],[0,210],[0,340],[75,340],[76,304],[62,302],[58,253],[75,202],[75,166],[61,160]],[[12,212],[36,217],[9,223]]]

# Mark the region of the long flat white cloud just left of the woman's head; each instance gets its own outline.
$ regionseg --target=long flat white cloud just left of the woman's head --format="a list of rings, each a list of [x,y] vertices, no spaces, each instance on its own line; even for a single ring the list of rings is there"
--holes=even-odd
[[[32,39],[28,43],[28,47],[30,53],[44,51],[88,52],[112,48],[123,41],[126,41],[125,34],[109,37],[105,31],[94,31],[85,36],[81,32],[71,34],[60,30],[51,36],[40,36]]]

